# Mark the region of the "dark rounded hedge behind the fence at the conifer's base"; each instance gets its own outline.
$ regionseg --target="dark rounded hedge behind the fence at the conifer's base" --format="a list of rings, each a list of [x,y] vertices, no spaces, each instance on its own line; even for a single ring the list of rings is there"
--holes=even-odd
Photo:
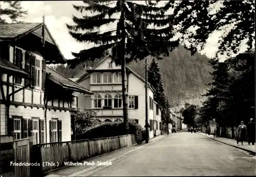
[[[123,122],[106,122],[96,125],[82,135],[76,135],[76,140],[112,137],[125,134]],[[138,123],[129,122],[129,134],[134,134],[138,144],[143,141],[142,128]]]

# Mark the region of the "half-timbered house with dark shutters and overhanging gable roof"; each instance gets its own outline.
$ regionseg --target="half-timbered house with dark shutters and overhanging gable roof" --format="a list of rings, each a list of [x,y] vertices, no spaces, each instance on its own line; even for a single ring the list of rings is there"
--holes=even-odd
[[[0,24],[1,139],[71,140],[74,91],[93,94],[46,64],[66,63],[44,23]]]

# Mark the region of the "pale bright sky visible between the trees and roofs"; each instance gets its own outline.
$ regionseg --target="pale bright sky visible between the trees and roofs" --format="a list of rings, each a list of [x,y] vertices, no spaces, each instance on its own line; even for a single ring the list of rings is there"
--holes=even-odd
[[[3,6],[3,2],[0,2]],[[82,5],[81,1],[23,1],[21,3],[25,10],[28,10],[25,22],[42,22],[42,16],[45,15],[46,26],[52,34],[54,40],[60,47],[61,53],[66,59],[72,59],[71,52],[79,52],[85,48],[91,48],[93,44],[79,43],[73,39],[66,27],[66,23],[73,24],[72,15],[80,17],[72,4]],[[8,20],[8,19],[7,19]],[[100,30],[110,29],[113,27],[102,27]],[[207,57],[215,57],[218,50],[218,40],[221,33],[213,33],[207,40],[205,48],[200,52]],[[243,45],[240,52],[244,52],[246,46]],[[220,56],[220,61],[227,59],[227,56]]]

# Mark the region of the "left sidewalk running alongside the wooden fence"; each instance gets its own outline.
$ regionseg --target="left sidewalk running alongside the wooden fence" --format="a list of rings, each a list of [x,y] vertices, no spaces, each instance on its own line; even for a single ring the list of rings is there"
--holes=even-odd
[[[170,136],[170,135],[159,135],[153,139],[150,139],[148,141],[148,144],[159,141],[163,138],[165,138],[166,136]],[[101,156],[96,156],[90,159],[87,159],[86,161],[83,162],[111,162],[114,163],[115,161],[117,161],[118,159],[121,159],[123,157],[125,157],[128,154],[131,154],[135,151],[138,151],[139,149],[143,148],[144,146],[148,145],[145,142],[137,145],[132,145],[129,147],[123,147],[121,149],[117,149],[115,151],[112,151],[110,153],[106,153],[103,154]],[[83,163],[82,162],[82,163]],[[56,169],[52,172],[49,172],[46,177],[57,177],[57,176],[79,176],[79,175],[86,175],[86,173],[88,173],[91,170],[94,170],[98,167],[103,167],[103,166],[90,166],[90,165],[82,165],[82,166],[65,166],[59,169]],[[106,167],[106,166],[105,166]],[[104,168],[104,167],[103,167]]]

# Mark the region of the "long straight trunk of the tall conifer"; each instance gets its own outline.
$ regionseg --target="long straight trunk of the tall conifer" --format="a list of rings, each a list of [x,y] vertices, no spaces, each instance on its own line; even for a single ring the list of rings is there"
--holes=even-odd
[[[123,19],[121,29],[121,41],[120,41],[120,50],[119,56],[121,57],[121,75],[122,75],[122,99],[123,99],[123,123],[126,134],[129,134],[129,120],[128,120],[128,111],[127,111],[127,88],[126,88],[126,61],[125,61],[125,28],[124,28],[124,11],[121,12],[121,18]]]

